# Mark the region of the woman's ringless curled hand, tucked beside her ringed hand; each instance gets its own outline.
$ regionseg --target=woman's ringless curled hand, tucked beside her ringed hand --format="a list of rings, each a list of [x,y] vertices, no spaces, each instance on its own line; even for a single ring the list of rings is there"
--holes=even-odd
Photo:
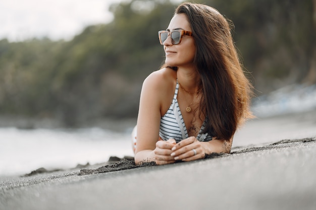
[[[176,160],[171,154],[171,150],[176,145],[175,139],[169,139],[168,141],[158,141],[156,148],[154,149],[154,159],[157,165],[164,165],[174,163]]]

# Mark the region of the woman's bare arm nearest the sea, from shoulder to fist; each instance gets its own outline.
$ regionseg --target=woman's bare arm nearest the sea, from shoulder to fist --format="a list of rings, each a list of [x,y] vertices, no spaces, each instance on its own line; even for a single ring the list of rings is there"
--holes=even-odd
[[[157,164],[175,162],[170,156],[175,141],[158,141],[161,110],[166,109],[165,104],[170,106],[172,103],[175,87],[170,85],[176,81],[172,74],[173,70],[162,69],[150,74],[143,83],[137,118],[136,164],[151,161]]]

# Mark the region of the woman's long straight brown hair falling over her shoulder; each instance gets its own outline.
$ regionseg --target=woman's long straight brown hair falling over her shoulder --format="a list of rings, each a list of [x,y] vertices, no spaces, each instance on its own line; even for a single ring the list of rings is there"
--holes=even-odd
[[[228,140],[238,125],[252,117],[249,110],[252,86],[244,75],[233,42],[230,28],[233,25],[206,5],[183,3],[175,14],[187,16],[195,41],[193,62],[203,85],[200,109],[208,119],[203,132]]]

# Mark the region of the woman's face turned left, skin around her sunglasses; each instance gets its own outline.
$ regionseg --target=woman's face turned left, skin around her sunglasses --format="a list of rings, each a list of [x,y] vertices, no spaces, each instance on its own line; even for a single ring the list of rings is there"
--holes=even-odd
[[[191,26],[185,14],[176,14],[170,21],[168,31],[183,29],[190,31]],[[166,64],[177,67],[192,67],[195,55],[195,44],[192,36],[183,35],[180,44],[172,44],[170,36],[164,42]]]

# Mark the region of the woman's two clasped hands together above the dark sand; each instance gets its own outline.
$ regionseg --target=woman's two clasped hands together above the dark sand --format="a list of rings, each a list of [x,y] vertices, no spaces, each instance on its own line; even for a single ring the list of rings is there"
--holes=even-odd
[[[157,165],[170,164],[178,160],[193,161],[204,157],[204,149],[194,136],[183,139],[179,143],[176,143],[175,139],[158,141],[154,150]]]

